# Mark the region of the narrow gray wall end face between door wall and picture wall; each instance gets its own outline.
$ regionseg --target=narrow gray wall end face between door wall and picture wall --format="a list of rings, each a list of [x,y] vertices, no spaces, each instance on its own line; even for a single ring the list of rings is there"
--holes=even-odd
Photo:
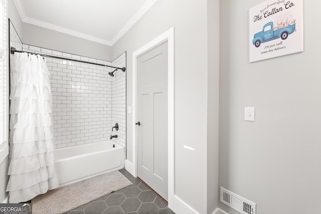
[[[207,210],[218,207],[219,172],[219,1],[207,1],[208,104],[207,104]]]

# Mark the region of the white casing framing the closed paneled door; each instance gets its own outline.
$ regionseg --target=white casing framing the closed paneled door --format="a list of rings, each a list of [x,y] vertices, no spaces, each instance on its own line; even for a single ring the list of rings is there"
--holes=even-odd
[[[175,133],[175,119],[174,119],[174,27],[169,29],[168,31],[164,32],[162,35],[159,35],[143,47],[139,48],[132,54],[132,163],[129,161],[125,161],[126,169],[134,176],[137,177],[137,142],[136,142],[136,125],[134,124],[136,122],[136,116],[137,116],[137,110],[136,110],[136,99],[137,99],[137,58],[144,53],[148,52],[149,50],[168,42],[168,200],[169,205],[170,201],[172,201],[171,198],[174,197],[174,166],[175,166],[175,158],[174,158],[174,145],[175,145],[175,139],[174,139],[174,133]]]

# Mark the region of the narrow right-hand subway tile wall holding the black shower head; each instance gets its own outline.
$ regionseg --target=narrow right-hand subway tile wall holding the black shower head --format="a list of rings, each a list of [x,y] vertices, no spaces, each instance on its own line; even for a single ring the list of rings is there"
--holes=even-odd
[[[111,66],[126,67],[126,52],[115,59]],[[112,124],[118,123],[118,131],[113,131],[113,135],[117,134],[117,138],[113,140],[126,148],[126,72],[117,70],[111,80],[111,115]],[[126,155],[126,153],[125,153]]]

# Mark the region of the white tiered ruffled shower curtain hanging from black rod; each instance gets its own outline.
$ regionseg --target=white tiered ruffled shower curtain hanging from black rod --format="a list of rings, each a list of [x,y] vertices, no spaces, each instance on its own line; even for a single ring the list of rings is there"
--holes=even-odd
[[[52,95],[46,60],[15,53],[10,71],[9,202],[32,199],[58,186]]]

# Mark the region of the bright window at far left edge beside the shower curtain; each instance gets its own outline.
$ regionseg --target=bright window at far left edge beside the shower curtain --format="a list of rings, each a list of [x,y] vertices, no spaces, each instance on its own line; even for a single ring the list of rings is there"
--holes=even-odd
[[[7,147],[7,0],[0,0],[0,163]]]

